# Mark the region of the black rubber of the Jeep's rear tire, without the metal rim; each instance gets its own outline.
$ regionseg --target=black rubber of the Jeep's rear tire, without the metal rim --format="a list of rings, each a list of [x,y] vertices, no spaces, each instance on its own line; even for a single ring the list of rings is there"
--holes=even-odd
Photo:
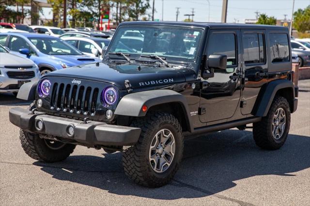
[[[275,112],[283,108],[286,116],[285,130],[279,140],[272,135],[272,123]],[[288,101],[282,96],[276,96],[266,117],[260,122],[253,123],[253,137],[258,147],[268,150],[279,149],[285,143],[290,130],[291,110]]]

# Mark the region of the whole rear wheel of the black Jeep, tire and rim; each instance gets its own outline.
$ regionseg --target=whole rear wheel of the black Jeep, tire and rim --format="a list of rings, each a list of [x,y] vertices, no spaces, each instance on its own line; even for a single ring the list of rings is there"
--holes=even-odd
[[[268,114],[260,122],[253,123],[253,137],[263,149],[279,149],[285,143],[290,130],[291,110],[284,97],[276,96]]]

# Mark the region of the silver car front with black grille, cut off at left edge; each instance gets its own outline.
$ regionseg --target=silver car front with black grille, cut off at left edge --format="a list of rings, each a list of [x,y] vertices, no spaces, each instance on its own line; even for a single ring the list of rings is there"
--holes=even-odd
[[[38,66],[30,59],[9,53],[0,45],[0,93],[13,92],[26,82],[39,80]]]

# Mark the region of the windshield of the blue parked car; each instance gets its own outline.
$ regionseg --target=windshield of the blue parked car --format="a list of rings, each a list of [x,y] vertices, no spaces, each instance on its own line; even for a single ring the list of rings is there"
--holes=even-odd
[[[32,37],[29,40],[40,52],[47,55],[82,55],[75,47],[58,38]]]

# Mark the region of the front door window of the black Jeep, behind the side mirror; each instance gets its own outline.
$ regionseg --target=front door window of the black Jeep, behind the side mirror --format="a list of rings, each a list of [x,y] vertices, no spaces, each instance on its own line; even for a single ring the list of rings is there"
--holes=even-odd
[[[212,33],[208,42],[207,55],[227,56],[227,66],[237,65],[236,36],[233,33]]]

